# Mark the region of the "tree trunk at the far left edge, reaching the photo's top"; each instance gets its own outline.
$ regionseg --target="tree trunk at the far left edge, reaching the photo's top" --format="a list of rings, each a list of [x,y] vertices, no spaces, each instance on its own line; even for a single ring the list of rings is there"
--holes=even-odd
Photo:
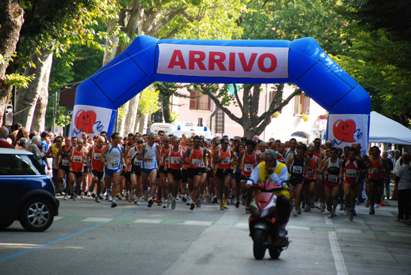
[[[16,51],[16,44],[23,25],[24,11],[13,0],[0,1],[0,55],[9,60]],[[3,125],[4,105],[8,103],[12,86],[5,83],[8,62],[0,62],[0,125]]]

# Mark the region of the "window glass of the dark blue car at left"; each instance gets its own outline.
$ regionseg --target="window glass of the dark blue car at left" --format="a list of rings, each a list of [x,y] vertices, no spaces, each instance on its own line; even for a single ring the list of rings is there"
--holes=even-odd
[[[0,155],[0,175],[45,174],[33,155]]]

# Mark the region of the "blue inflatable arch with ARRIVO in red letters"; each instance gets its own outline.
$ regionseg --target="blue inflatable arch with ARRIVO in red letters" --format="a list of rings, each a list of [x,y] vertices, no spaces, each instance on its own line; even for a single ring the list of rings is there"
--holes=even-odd
[[[364,88],[312,38],[290,42],[157,40],[138,36],[123,53],[79,85],[71,134],[82,131],[93,134],[102,130],[111,133],[117,108],[154,81],[292,82],[330,115],[369,117],[371,108],[369,94]],[[368,136],[366,123],[362,132]]]

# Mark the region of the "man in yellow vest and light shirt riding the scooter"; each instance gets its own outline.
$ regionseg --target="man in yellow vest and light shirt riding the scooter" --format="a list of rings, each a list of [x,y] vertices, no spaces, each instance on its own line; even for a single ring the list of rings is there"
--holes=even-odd
[[[258,183],[260,181],[265,181],[266,179],[271,179],[279,185],[286,185],[288,180],[288,169],[284,163],[277,161],[277,153],[274,150],[266,150],[262,153],[264,161],[258,164],[253,171],[251,176],[246,183],[246,187],[249,188],[253,183]],[[286,223],[288,218],[290,218],[290,193],[287,189],[282,189],[280,191],[275,191],[277,195],[277,221],[279,223],[279,237],[285,237]]]

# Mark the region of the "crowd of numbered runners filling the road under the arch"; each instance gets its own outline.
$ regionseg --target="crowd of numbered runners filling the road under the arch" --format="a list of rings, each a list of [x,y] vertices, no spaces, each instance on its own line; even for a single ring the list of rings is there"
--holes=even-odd
[[[64,200],[69,195],[73,200],[93,196],[101,202],[105,196],[111,207],[123,199],[175,209],[176,200],[181,199],[190,210],[206,201],[219,204],[221,210],[229,204],[243,205],[248,213],[252,193],[245,183],[264,161],[262,153],[273,150],[290,174],[292,215],[316,208],[327,210],[329,218],[334,218],[339,203],[340,210],[353,220],[364,184],[369,213],[375,214],[384,177],[390,172],[377,146],[370,155],[360,149],[358,143],[345,148],[336,148],[331,141],[322,145],[319,138],[306,146],[294,138],[284,143],[264,142],[258,137],[205,140],[198,135],[179,138],[160,131],[129,133],[123,139],[119,133],[108,137],[102,132],[92,140],[87,133],[81,139],[55,137],[47,157],[53,159],[53,181],[56,190],[62,189]]]

